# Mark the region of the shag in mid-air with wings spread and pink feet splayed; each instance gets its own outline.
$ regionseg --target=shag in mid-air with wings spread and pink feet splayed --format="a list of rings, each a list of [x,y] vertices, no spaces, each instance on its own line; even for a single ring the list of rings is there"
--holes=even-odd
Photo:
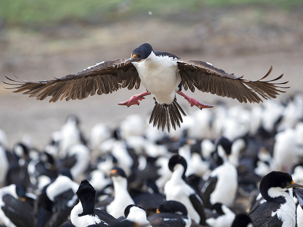
[[[189,89],[194,92],[197,88],[202,92],[236,98],[239,102],[259,103],[262,99],[275,98],[279,92],[284,93],[285,91],[280,88],[288,88],[280,87],[287,82],[276,82],[283,74],[273,80],[261,81],[268,77],[271,71],[272,66],[260,80],[248,80],[228,74],[208,62],[185,60],[168,52],[154,51],[150,44],[144,43],[132,51],[129,59],[102,61],[77,74],[38,82],[25,81],[18,77],[16,78],[21,81],[16,81],[5,76],[18,84],[4,83],[17,85],[12,87],[17,89],[13,91],[15,93],[24,92],[23,94],[36,97],[37,100],[50,96],[49,102],[55,102],[59,99],[81,100],[89,95],[108,94],[125,87],[129,90],[134,87],[138,89],[142,82],[146,88],[145,92],[133,95],[129,100],[118,105],[127,107],[139,105],[139,100],[153,94],[155,107],[149,123],[154,127],[157,126],[158,129],[161,128],[162,131],[167,128],[169,132],[171,127],[174,129],[180,127],[183,122],[181,113],[186,116],[177,103],[176,94],[184,97],[191,107],[197,106],[199,109],[213,107],[186,95],[182,92],[182,87],[185,91]]]

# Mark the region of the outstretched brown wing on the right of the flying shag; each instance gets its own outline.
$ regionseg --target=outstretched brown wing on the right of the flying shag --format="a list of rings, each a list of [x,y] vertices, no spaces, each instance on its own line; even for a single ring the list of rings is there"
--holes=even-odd
[[[276,83],[277,80],[282,78],[283,74],[270,81],[261,81],[271,73],[272,66],[268,73],[257,81],[228,74],[222,69],[203,61],[179,59],[178,68],[185,90],[189,88],[194,92],[196,87],[203,92],[236,98],[239,102],[259,103],[262,102],[262,99],[275,98],[279,92],[284,93],[285,91],[280,90],[280,88],[289,88],[279,86],[288,83],[288,81]]]

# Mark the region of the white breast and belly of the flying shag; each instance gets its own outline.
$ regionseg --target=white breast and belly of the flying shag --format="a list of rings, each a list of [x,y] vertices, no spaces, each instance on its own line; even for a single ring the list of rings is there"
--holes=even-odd
[[[144,61],[133,64],[142,84],[155,96],[157,102],[171,104],[181,82],[177,60],[168,56],[156,56],[151,52]]]

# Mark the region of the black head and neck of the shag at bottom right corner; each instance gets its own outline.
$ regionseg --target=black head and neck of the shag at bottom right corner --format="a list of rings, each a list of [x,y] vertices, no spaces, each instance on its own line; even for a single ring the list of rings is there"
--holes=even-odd
[[[268,195],[268,189],[275,187],[280,187],[286,191],[289,188],[302,188],[303,186],[295,184],[288,173],[272,171],[261,179],[259,189],[263,198],[267,201],[277,201],[277,197],[272,198]]]

